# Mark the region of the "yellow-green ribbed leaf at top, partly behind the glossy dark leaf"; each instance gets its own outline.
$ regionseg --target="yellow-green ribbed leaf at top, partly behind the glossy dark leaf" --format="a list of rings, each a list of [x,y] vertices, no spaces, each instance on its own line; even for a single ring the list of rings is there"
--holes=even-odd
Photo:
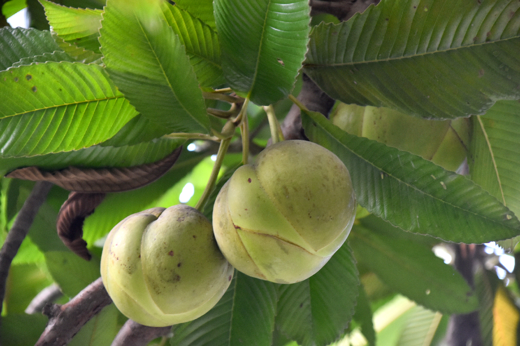
[[[177,5],[165,3],[163,11],[166,22],[186,48],[200,86],[215,88],[224,84],[220,46],[213,28],[190,15],[188,11],[179,9]]]

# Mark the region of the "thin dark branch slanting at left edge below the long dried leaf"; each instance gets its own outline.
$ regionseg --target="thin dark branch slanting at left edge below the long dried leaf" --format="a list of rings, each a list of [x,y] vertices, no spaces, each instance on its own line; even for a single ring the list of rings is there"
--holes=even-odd
[[[48,182],[37,182],[34,185],[9,233],[7,233],[7,238],[0,250],[0,301],[4,301],[5,285],[12,259],[15,258],[22,241],[27,236],[34,217],[47,198],[47,193],[49,193],[51,187],[53,187],[53,184]]]

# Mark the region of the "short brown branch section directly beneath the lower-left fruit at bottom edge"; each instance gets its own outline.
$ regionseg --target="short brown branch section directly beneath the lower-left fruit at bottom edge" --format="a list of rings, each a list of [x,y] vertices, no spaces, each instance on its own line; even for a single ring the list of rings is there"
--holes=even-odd
[[[172,326],[147,327],[128,320],[115,336],[111,346],[146,346],[153,339],[167,336],[171,331]]]

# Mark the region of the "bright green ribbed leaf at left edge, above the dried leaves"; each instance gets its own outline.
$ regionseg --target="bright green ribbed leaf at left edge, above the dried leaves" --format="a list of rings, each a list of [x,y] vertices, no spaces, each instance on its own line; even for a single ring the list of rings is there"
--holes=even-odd
[[[109,139],[136,116],[102,67],[48,62],[0,73],[0,153],[25,157]]]

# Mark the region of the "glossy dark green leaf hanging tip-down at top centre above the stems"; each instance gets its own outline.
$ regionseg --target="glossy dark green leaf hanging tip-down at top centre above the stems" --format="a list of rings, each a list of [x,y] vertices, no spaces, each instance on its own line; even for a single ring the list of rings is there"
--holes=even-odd
[[[218,0],[215,20],[229,86],[258,105],[287,97],[307,50],[306,0]]]

